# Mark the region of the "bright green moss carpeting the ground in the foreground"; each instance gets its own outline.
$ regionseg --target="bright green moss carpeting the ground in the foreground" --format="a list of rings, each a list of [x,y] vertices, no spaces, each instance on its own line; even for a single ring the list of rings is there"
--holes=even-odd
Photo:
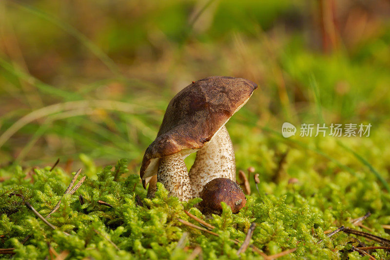
[[[372,212],[367,225],[376,235],[389,237],[381,226],[386,220],[381,216],[388,210],[388,205],[381,201],[388,201],[389,195],[367,193],[367,185],[371,191],[377,185],[361,183],[358,178],[349,180],[350,191],[345,192],[348,173],[341,173],[321,189],[281,182],[273,188],[273,194],[267,195],[270,186],[261,183],[258,193],[247,196],[247,205],[240,213],[232,214],[223,204],[221,216],[206,220],[215,226],[213,231],[217,237],[177,220],[198,225],[183,209],[205,219],[193,207],[200,199],[180,202],[168,197],[167,191],[157,183],[156,198],[148,200],[139,176],[126,171],[126,160],[119,160],[115,167],[107,166],[98,172],[95,179],[87,178],[74,195],[63,196],[59,210],[48,219],[57,227],[53,230],[24,205],[21,197],[10,195],[22,194],[24,200],[46,216],[63,195],[71,176],[60,168],[52,172],[48,167],[35,169],[28,177],[20,167],[1,169],[1,176],[11,178],[0,182],[3,242],[0,247],[15,248],[14,259],[44,259],[53,250],[64,252],[69,259],[185,259],[197,246],[204,259],[238,259],[236,252],[240,245],[233,240],[243,241],[251,223],[256,222],[252,244],[268,255],[297,248],[284,258],[357,259],[359,254],[351,251],[352,246],[358,246],[356,238],[343,232],[328,238],[324,231],[341,225],[359,229],[351,224],[351,218],[364,215],[372,208],[378,210]],[[82,205],[79,196],[83,198]],[[359,206],[362,196],[365,203]],[[31,237],[23,244],[28,236]],[[358,239],[368,245],[379,245]],[[390,257],[384,250],[376,250],[371,255],[377,259]],[[241,254],[241,259],[253,258],[260,256],[250,249]]]

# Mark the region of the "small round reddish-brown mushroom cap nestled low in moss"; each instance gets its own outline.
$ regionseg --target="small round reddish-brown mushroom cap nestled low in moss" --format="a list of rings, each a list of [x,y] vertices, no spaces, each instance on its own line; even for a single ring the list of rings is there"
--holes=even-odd
[[[202,213],[221,213],[221,202],[231,207],[233,213],[238,213],[247,202],[240,186],[227,178],[216,178],[209,181],[200,192],[202,201],[199,208]]]

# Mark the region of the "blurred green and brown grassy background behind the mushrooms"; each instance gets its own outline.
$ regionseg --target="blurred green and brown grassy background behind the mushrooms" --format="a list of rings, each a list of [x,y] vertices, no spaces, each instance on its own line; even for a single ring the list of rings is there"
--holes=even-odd
[[[224,75],[259,85],[227,124],[238,168],[331,175],[363,168],[356,152],[388,178],[389,46],[387,0],[2,0],[0,166],[136,173],[169,100]],[[372,127],[284,139],[285,121]]]

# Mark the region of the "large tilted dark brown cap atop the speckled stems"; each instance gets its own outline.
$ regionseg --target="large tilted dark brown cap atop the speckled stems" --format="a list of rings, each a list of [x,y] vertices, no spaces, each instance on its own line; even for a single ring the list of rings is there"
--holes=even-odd
[[[195,81],[169,103],[156,140],[146,149],[139,175],[157,173],[160,158],[202,148],[251,97],[257,85],[241,78],[213,76]]]

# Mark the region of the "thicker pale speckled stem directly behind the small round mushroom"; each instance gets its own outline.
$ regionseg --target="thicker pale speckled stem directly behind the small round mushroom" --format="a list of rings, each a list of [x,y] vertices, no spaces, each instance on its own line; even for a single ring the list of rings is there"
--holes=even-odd
[[[196,152],[196,159],[190,170],[193,196],[199,197],[204,185],[216,178],[235,181],[233,144],[225,126],[215,133],[206,146]]]

